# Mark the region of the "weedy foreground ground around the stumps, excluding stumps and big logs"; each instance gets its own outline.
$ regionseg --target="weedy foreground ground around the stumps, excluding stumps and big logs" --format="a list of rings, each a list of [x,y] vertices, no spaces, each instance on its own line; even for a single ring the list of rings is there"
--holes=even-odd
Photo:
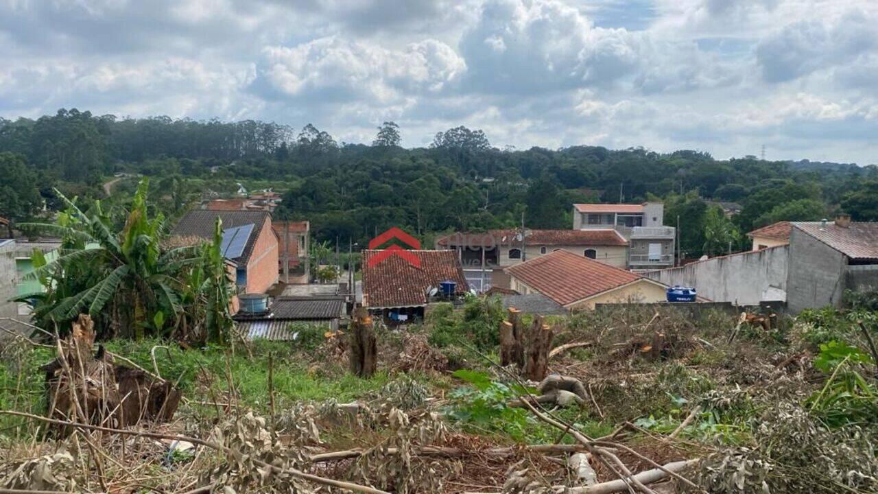
[[[8,452],[0,460],[0,488],[171,492],[222,484],[240,492],[327,491],[256,475],[252,461],[259,459],[394,492],[499,492],[504,483],[511,491],[511,472],[522,470],[532,489],[525,491],[570,485],[564,454],[536,454],[525,445],[576,441],[529,410],[508,406],[534,383],[490,362],[504,316],[493,301],[471,301],[457,310],[437,306],[404,331],[379,331],[379,370],[371,379],[347,372],[343,337],[324,338],[317,329],[294,343],[234,348],[108,342],[111,352],[183,389],[175,421],[155,430],[214,438],[246,457],[111,434],[61,439],[39,421],[0,416]],[[583,344],[550,360],[552,373],[587,388],[585,406],[552,410],[577,431],[612,437],[662,464],[701,458],[686,476],[702,491],[878,491],[878,385],[867,341],[867,334],[878,336],[874,313],[808,311],[781,317],[770,331],[738,326],[727,313],[674,309],[658,316],[643,309],[587,312],[550,323],[555,346]],[[2,355],[0,409],[44,415],[39,367],[54,352],[18,341],[7,342]],[[494,454],[503,447],[513,449]],[[340,451],[357,453],[314,460]],[[651,468],[636,454],[619,457],[633,471]],[[601,463],[594,469],[600,481],[615,478]]]

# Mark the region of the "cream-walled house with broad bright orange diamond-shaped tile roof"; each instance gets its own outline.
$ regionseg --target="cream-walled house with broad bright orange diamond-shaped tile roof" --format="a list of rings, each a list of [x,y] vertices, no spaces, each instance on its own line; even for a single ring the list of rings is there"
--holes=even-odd
[[[666,301],[666,286],[594,259],[554,251],[505,269],[520,294],[543,294],[565,309],[594,309],[596,303]]]

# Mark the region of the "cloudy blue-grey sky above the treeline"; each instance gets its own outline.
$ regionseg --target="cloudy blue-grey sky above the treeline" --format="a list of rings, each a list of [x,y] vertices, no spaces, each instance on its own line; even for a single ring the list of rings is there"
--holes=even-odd
[[[874,0],[0,0],[0,115],[878,163]]]

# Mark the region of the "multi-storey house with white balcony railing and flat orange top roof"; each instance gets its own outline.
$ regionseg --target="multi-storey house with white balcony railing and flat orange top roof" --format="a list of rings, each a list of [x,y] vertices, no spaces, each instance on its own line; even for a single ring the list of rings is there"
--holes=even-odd
[[[629,269],[649,270],[673,266],[676,229],[666,227],[665,206],[643,204],[574,204],[574,230],[611,229],[628,241]]]

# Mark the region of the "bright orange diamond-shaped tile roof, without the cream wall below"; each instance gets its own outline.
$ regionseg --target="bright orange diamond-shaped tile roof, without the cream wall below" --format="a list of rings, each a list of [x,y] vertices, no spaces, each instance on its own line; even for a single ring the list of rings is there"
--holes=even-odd
[[[633,272],[568,251],[554,251],[520,265],[507,267],[504,271],[561,305],[643,278]]]

